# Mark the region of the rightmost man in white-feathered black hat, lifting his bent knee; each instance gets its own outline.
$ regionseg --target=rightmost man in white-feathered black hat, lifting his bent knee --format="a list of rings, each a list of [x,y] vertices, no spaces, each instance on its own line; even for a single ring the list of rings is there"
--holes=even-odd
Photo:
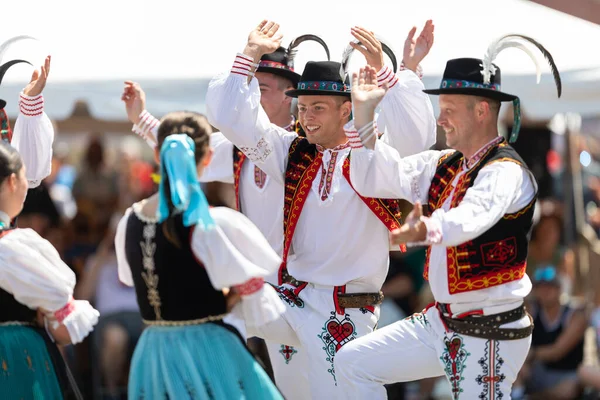
[[[429,246],[425,278],[436,302],[342,348],[335,368],[347,398],[382,399],[386,383],[442,375],[454,399],[510,396],[533,329],[523,300],[532,287],[525,268],[537,183],[498,135],[501,102],[513,102],[511,143],[520,112],[519,98],[500,90],[493,61],[509,47],[536,61],[532,44],[548,59],[560,96],[552,56],[528,37],[502,37],[483,60],[448,61],[441,87],[426,93],[440,95],[438,125],[454,150],[402,158],[375,141],[373,115],[385,90],[368,77],[354,78],[358,131],[348,132],[366,148],[353,151],[352,183],[365,196],[415,204],[391,242]],[[428,204],[425,216],[419,203]]]

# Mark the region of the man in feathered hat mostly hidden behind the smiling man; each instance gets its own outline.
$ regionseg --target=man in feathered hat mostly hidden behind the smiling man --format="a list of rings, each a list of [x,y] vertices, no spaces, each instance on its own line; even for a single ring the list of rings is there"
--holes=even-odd
[[[267,117],[274,124],[303,135],[300,124],[291,115],[292,98],[285,91],[294,89],[300,74],[294,71],[294,60],[299,46],[307,41],[319,43],[329,60],[327,44],[315,35],[302,35],[292,40],[287,48],[279,47],[271,54],[265,54],[256,70],[256,79],[261,87],[261,105]],[[122,99],[127,114],[134,123],[133,131],[156,146],[156,132],[160,121],[146,110],[146,95],[139,84],[125,83]],[[200,182],[233,183],[237,211],[248,217],[261,231],[277,254],[283,247],[283,187],[247,159],[240,149],[227,140],[222,133],[214,132],[210,137],[214,155],[210,164],[199,176]],[[286,281],[292,278],[287,275]],[[279,283],[278,271],[265,277],[274,285]],[[309,397],[306,355],[299,346],[288,346],[279,342],[267,341],[269,361],[277,387],[288,400],[301,400]]]

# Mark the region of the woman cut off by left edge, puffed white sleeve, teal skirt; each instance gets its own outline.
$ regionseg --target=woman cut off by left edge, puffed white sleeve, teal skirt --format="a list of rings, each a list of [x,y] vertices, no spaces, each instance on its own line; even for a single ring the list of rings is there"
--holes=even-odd
[[[10,228],[26,176],[19,153],[0,141],[0,397],[62,399],[67,371],[55,343],[81,342],[98,312],[73,300],[75,274],[47,240]]]

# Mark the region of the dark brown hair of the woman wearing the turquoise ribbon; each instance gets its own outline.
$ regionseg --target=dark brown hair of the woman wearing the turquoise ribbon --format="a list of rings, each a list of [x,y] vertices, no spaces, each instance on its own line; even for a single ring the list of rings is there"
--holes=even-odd
[[[212,127],[208,123],[208,119],[199,113],[192,111],[175,111],[165,115],[160,121],[157,133],[158,149],[163,145],[165,139],[170,135],[186,134],[192,138],[195,144],[194,158],[196,164],[199,163],[208,150],[210,134]],[[169,208],[169,217],[163,222],[162,229],[167,240],[177,247],[181,247],[181,242],[175,229],[175,220],[173,215],[173,203],[171,202],[171,191],[169,189],[168,177],[162,176],[164,179],[165,194],[167,197],[167,205]]]

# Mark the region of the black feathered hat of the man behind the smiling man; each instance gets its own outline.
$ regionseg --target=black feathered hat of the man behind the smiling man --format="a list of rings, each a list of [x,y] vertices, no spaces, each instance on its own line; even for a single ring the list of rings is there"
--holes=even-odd
[[[296,86],[300,80],[300,74],[294,71],[294,60],[298,54],[298,46],[306,41],[319,43],[325,49],[327,60],[329,60],[329,48],[323,39],[316,35],[298,36],[290,42],[287,47],[279,47],[273,53],[265,54],[258,63],[256,72],[268,72],[289,79]]]

